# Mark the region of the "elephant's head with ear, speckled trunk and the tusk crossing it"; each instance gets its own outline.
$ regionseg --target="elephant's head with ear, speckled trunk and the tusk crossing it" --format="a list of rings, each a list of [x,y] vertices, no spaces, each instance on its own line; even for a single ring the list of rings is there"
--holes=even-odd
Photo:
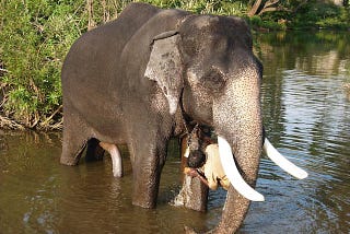
[[[264,200],[252,188],[264,140],[262,66],[253,54],[247,24],[238,17],[186,15],[175,31],[153,38],[144,75],[158,83],[170,115],[214,129],[233,185],[214,231],[235,232],[249,200]]]

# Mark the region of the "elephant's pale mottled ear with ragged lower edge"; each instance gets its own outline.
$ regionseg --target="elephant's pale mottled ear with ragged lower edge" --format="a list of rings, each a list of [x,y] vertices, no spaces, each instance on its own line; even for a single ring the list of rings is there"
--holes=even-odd
[[[144,77],[155,81],[166,96],[171,115],[176,112],[184,86],[178,40],[179,35],[173,31],[155,36],[144,72]]]

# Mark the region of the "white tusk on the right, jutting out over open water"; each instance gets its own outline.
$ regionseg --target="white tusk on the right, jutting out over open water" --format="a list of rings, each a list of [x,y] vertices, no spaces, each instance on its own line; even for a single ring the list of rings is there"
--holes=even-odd
[[[267,138],[265,138],[264,150],[267,156],[282,169],[284,169],[287,173],[291,174],[292,176],[299,179],[307,177],[307,172],[298,167],[289,160],[287,160],[282,154],[280,154]]]

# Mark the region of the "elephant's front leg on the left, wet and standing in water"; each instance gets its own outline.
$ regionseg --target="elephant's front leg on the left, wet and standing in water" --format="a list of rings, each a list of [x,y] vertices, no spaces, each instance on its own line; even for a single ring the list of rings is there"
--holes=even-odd
[[[131,145],[130,153],[133,173],[132,204],[154,208],[166,157],[166,142],[154,145],[138,141]]]

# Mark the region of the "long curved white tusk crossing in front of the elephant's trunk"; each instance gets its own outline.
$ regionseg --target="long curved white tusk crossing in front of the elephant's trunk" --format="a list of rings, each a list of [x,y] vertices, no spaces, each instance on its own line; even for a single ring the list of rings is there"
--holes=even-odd
[[[261,194],[252,188],[241,176],[237,166],[233,160],[231,147],[229,142],[218,136],[219,154],[223,171],[225,172],[231,185],[245,198],[252,201],[264,201]]]

